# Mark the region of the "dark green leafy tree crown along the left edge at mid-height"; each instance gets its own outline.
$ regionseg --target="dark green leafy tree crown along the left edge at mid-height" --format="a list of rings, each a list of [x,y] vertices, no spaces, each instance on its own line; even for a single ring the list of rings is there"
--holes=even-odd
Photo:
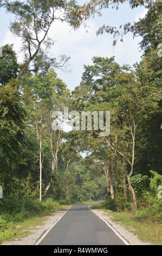
[[[12,172],[14,175],[21,161],[20,148],[23,143],[24,117],[25,111],[20,93],[15,92],[12,82],[9,82],[0,88],[0,168],[4,193],[7,193],[9,173]]]

